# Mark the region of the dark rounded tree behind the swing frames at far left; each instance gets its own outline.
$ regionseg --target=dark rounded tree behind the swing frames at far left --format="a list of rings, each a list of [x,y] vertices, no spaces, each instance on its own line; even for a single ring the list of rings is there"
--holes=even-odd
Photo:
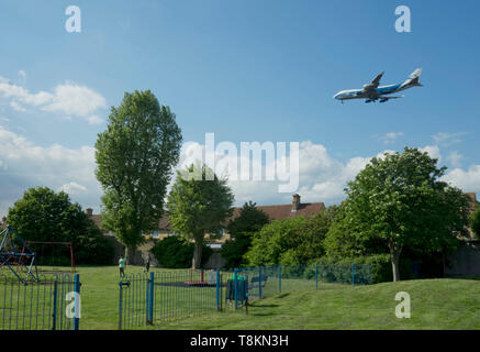
[[[8,223],[24,241],[71,242],[77,264],[111,262],[113,249],[108,240],[80,205],[71,204],[64,191],[55,193],[46,187],[27,189],[9,209]],[[64,246],[35,250],[43,256],[37,257],[38,263],[52,263],[62,257],[62,265],[70,263],[69,251]]]

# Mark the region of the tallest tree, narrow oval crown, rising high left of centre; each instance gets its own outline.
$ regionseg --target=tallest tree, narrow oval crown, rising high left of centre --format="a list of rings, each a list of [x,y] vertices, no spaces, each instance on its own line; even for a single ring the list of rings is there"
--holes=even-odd
[[[102,224],[127,253],[143,242],[142,232],[158,229],[181,141],[175,113],[149,90],[125,94],[111,108],[96,143],[96,175],[104,190]]]

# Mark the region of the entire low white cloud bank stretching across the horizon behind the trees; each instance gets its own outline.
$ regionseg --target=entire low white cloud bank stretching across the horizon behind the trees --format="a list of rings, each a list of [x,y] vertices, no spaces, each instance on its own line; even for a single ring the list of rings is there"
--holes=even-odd
[[[63,145],[49,146],[34,145],[24,136],[11,132],[0,125],[0,212],[4,213],[8,207],[21,198],[29,187],[47,186],[56,190],[67,191],[74,201],[79,201],[83,207],[91,207],[99,211],[101,187],[94,176],[94,148],[82,146],[68,148]],[[217,145],[217,144],[216,144]],[[434,157],[440,156],[437,146],[425,146],[424,151]],[[238,147],[239,151],[239,147]],[[204,145],[191,142],[182,147],[182,165],[193,163],[201,158]],[[383,151],[376,156],[381,157]],[[216,162],[233,160],[238,155],[219,155]],[[375,156],[375,155],[372,155]],[[339,161],[328,153],[322,144],[310,141],[300,143],[300,179],[298,194],[302,201],[324,201],[337,204],[345,198],[344,188],[349,180],[368,164],[370,156],[355,156]],[[265,168],[275,165],[266,164]],[[226,174],[227,169],[224,169]],[[265,179],[265,177],[263,178]],[[444,179],[465,191],[480,191],[480,165],[472,165],[468,169],[456,167],[449,170]],[[258,205],[289,204],[291,194],[280,194],[278,185],[283,182],[252,182],[230,180],[235,195],[235,204],[253,200]],[[171,185],[170,185],[171,186]],[[169,186],[169,188],[170,188]]]

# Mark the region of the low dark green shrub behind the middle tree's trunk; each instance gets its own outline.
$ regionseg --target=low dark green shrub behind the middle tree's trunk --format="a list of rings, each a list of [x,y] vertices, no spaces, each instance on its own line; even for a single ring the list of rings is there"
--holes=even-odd
[[[150,250],[152,254],[163,267],[188,268],[192,265],[194,244],[172,235],[158,241]],[[202,263],[205,265],[213,250],[203,244]]]

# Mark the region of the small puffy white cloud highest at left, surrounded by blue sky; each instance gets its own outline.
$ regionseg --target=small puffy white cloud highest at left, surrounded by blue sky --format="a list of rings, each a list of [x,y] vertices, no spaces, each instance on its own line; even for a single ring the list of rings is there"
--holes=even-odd
[[[41,90],[31,94],[27,89],[0,77],[0,97],[10,99],[11,107],[18,111],[25,111],[21,105],[30,105],[43,111],[82,118],[91,124],[102,122],[96,113],[107,108],[107,101],[100,94],[72,82],[58,85],[53,92]]]

